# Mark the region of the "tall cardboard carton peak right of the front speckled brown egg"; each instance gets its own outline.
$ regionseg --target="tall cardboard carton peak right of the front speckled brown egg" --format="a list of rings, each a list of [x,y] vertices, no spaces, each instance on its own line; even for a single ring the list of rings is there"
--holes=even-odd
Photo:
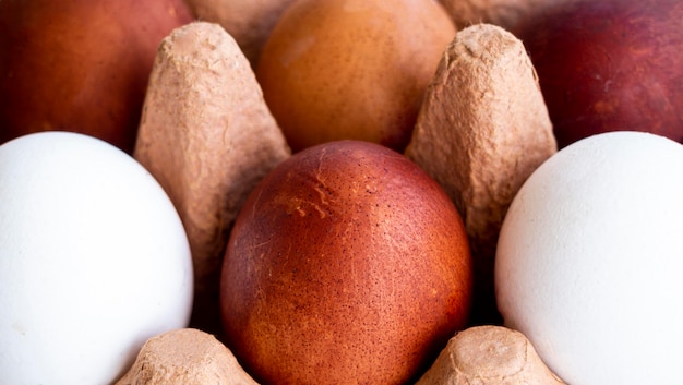
[[[469,26],[446,49],[406,156],[446,190],[463,215],[475,261],[472,322],[501,322],[493,261],[507,207],[558,151],[531,61],[519,39]]]

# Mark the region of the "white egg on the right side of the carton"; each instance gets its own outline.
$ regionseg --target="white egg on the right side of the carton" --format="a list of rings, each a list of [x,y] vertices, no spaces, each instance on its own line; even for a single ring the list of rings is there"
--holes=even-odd
[[[679,384],[683,147],[610,132],[564,147],[503,221],[498,305],[573,385]]]

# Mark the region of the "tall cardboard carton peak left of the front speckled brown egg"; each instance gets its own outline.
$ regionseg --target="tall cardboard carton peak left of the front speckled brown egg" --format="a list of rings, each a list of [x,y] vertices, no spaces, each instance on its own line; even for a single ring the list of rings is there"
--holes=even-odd
[[[194,22],[164,38],[134,157],[164,187],[188,232],[193,326],[220,329],[218,282],[232,221],[289,155],[249,61],[225,29]]]

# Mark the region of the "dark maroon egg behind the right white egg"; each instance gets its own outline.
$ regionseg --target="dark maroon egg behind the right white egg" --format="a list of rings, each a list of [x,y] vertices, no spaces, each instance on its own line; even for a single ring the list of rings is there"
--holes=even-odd
[[[683,141],[683,2],[550,1],[511,31],[537,71],[558,146],[614,130]]]

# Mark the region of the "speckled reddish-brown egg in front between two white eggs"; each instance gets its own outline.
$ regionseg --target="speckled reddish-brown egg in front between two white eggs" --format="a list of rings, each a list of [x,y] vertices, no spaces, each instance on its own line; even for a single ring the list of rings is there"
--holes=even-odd
[[[462,219],[416,164],[337,141],[253,190],[221,276],[226,344],[262,384],[405,384],[466,326]]]

